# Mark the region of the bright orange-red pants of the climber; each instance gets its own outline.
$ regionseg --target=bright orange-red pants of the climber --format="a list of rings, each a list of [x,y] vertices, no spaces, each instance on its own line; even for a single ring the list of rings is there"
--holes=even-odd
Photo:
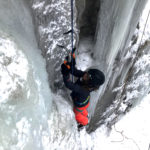
[[[88,124],[88,111],[87,108],[89,107],[88,103],[84,107],[74,107],[73,111],[75,113],[75,119],[78,123],[82,125],[87,125]]]

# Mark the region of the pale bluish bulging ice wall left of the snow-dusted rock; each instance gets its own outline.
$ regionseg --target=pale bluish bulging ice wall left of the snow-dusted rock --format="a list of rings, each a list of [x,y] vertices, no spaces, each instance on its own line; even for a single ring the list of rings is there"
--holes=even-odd
[[[0,0],[0,149],[42,149],[51,109],[45,68],[27,1]]]

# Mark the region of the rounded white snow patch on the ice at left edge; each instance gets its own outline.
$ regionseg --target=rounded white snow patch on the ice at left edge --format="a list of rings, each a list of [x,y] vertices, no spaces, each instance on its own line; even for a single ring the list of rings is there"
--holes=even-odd
[[[15,43],[0,38],[0,103],[9,100],[13,93],[19,96],[28,75],[28,62]]]

